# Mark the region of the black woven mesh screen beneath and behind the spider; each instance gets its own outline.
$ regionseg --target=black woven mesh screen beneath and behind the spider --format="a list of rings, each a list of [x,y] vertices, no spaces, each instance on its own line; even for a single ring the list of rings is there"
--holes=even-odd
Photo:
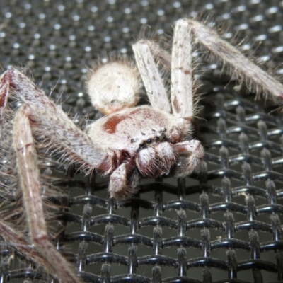
[[[47,93],[57,86],[52,98],[63,92],[75,122],[94,119],[84,88],[91,62],[117,51],[132,55],[141,28],[172,35],[175,20],[197,12],[209,25],[224,22],[224,37],[245,38],[247,53],[283,74],[279,0],[1,0],[0,64],[30,68]],[[282,282],[282,120],[254,103],[254,94],[233,91],[236,81],[215,64],[200,69],[207,70],[206,120],[197,136],[207,173],[185,182],[144,180],[139,195],[119,203],[108,200],[107,180],[69,170],[73,179],[58,184],[71,189],[69,209],[57,214],[67,224],[59,243],[86,282]],[[17,258],[2,246],[1,282],[44,280]]]

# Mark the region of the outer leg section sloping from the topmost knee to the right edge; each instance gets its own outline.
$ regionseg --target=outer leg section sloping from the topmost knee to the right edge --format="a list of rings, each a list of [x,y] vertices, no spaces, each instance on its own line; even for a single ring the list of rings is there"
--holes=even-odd
[[[197,21],[182,19],[177,22],[175,29],[180,30],[180,33],[189,33],[196,37],[202,45],[223,60],[224,64],[229,63],[236,69],[237,74],[253,81],[257,92],[263,88],[268,93],[271,93],[273,98],[283,99],[283,86],[279,81],[250,61],[236,47],[222,40],[210,28]]]

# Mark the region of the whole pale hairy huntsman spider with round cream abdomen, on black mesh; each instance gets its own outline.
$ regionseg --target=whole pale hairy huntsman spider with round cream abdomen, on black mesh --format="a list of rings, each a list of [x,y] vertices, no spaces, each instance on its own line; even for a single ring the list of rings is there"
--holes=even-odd
[[[196,112],[194,40],[253,81],[257,88],[283,97],[283,87],[278,81],[214,31],[190,19],[177,21],[172,54],[154,42],[140,40],[133,46],[137,68],[120,61],[93,70],[87,83],[88,93],[94,107],[105,117],[88,125],[85,132],[20,71],[9,69],[1,76],[0,119],[3,120],[9,95],[23,101],[13,120],[13,148],[34,248],[19,249],[38,259],[62,282],[79,279],[48,239],[34,137],[62,151],[69,161],[79,163],[88,173],[95,169],[110,175],[110,196],[117,199],[132,194],[140,177],[169,173],[184,177],[200,170],[204,157],[202,144],[185,139]],[[156,62],[171,69],[171,103]],[[139,76],[151,106],[134,107],[139,100]],[[4,222],[0,222],[0,231],[8,242],[26,243]]]

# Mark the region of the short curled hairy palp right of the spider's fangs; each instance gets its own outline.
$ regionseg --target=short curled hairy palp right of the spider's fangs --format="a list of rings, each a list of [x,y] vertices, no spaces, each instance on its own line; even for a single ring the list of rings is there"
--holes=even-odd
[[[202,169],[202,160],[204,158],[204,148],[200,141],[192,139],[175,144],[175,150],[178,151],[177,167],[175,176],[185,177],[193,171]]]

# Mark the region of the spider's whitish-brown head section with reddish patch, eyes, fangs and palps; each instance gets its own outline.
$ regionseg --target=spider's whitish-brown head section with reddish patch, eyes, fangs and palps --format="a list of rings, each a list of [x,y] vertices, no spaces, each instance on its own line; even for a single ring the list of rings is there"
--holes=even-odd
[[[86,133],[108,151],[99,169],[111,173],[110,190],[116,197],[134,188],[135,184],[127,185],[129,175],[153,178],[173,172],[185,176],[200,166],[204,155],[200,141],[183,141],[187,133],[183,118],[149,106],[105,116],[89,125]],[[182,156],[187,157],[185,163]]]

